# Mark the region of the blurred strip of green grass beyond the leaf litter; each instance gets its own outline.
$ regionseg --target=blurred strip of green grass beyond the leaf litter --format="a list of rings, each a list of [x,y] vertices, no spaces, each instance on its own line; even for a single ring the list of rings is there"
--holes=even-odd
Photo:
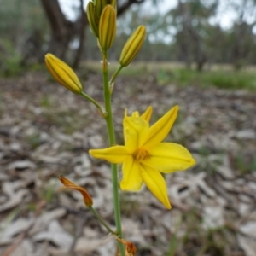
[[[100,69],[94,61],[85,63],[85,67],[90,68],[90,72],[99,73]],[[118,67],[117,63],[111,63],[110,73]],[[255,67],[239,72],[234,71],[230,66],[214,66],[211,70],[198,72],[195,69],[184,68],[176,63],[166,62],[137,62],[131,67],[122,70],[124,77],[148,78],[155,76],[156,82],[160,85],[177,84],[181,86],[209,86],[220,89],[248,89],[256,90]]]

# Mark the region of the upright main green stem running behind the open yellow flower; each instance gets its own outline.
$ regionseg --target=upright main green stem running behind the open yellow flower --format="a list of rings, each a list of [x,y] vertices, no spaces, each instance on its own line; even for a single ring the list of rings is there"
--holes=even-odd
[[[107,55],[103,55],[102,63],[102,74],[103,74],[103,86],[104,86],[104,100],[105,100],[105,109],[107,116],[105,117],[106,123],[108,126],[108,143],[110,146],[115,145],[115,134],[113,128],[113,113],[111,105],[111,92],[108,88],[108,60]],[[118,181],[118,168],[116,164],[111,164],[112,172],[112,184],[113,184],[113,209],[114,209],[114,218],[116,229],[119,238],[122,238],[122,224],[121,224],[121,214],[120,214],[120,205],[119,205],[119,181]],[[121,256],[125,256],[124,245],[120,242],[119,251]]]

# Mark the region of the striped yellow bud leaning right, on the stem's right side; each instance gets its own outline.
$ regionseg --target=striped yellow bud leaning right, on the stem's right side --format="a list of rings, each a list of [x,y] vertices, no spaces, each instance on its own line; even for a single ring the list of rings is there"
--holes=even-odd
[[[142,48],[145,37],[146,27],[138,26],[137,30],[132,33],[130,38],[128,38],[119,58],[119,63],[123,67],[128,66],[135,58],[138,51]]]

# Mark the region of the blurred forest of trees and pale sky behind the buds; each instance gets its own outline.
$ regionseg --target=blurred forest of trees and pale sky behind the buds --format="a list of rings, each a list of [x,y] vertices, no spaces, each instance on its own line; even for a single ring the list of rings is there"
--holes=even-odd
[[[145,6],[144,3],[150,2]],[[118,61],[125,40],[139,25],[148,37],[137,61],[182,62],[196,70],[212,64],[230,64],[239,70],[256,61],[255,0],[178,0],[171,9],[165,1],[119,1],[119,30],[110,60]],[[1,0],[0,73],[9,76],[20,67],[35,67],[51,52],[73,67],[79,61],[98,60],[84,0]],[[136,4],[137,3],[137,4]],[[229,26],[224,26],[229,20]]]

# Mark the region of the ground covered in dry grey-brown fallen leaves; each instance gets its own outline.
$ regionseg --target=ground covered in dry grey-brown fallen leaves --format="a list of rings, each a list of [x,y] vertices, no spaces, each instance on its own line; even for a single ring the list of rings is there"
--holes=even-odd
[[[101,76],[84,91],[102,102]],[[172,210],[143,188],[121,193],[125,239],[137,255],[256,255],[256,93],[159,85],[156,76],[117,79],[113,113],[122,143],[124,109],[154,107],[153,121],[178,104],[168,141],[197,165],[166,175]],[[0,254],[115,255],[115,239],[75,191],[58,192],[59,175],[86,187],[114,225],[108,163],[90,158],[107,146],[104,120],[81,96],[45,73],[0,79]]]

